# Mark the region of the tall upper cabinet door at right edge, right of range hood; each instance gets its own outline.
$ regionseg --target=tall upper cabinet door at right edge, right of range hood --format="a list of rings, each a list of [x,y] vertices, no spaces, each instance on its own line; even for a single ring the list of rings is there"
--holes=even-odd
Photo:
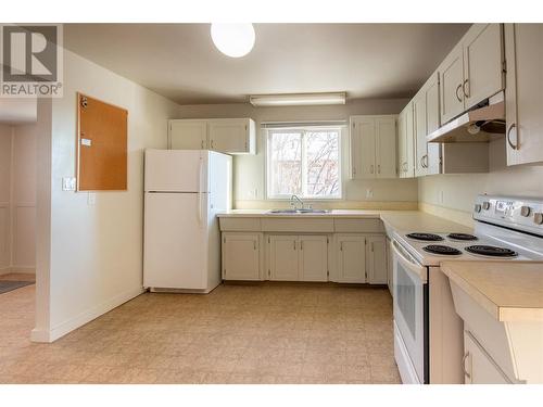
[[[506,24],[507,165],[543,162],[543,24]]]

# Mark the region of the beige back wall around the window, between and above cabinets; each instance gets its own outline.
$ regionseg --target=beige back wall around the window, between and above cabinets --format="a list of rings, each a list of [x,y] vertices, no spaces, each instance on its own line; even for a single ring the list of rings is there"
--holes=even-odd
[[[182,105],[178,118],[251,117],[256,122],[256,155],[239,155],[233,160],[235,207],[270,207],[281,202],[265,200],[265,135],[258,131],[261,122],[294,120],[339,120],[349,119],[356,114],[397,114],[407,103],[405,99],[358,100],[338,106],[296,106],[296,107],[253,107],[250,104],[201,104]],[[391,202],[415,203],[417,201],[417,180],[350,180],[348,179],[348,130],[342,136],[343,195],[342,202],[329,205],[336,207],[390,207]],[[367,190],[372,191],[368,199]],[[387,201],[387,203],[383,203]],[[315,204],[325,206],[325,204]]]

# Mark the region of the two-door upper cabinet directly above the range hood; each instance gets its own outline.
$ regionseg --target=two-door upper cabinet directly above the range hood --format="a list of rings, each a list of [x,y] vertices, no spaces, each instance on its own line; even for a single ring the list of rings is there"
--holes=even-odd
[[[504,89],[500,24],[473,24],[438,68],[444,124]]]

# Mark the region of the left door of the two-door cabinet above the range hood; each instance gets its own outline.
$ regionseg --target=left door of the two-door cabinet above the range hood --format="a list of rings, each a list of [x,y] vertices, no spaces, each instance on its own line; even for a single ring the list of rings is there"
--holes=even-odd
[[[441,93],[441,124],[464,112],[464,63],[462,43],[458,43],[439,67]]]

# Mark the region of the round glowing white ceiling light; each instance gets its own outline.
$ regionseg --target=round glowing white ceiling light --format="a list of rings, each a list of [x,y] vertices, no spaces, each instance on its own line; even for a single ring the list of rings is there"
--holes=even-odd
[[[247,55],[254,46],[254,28],[248,24],[212,24],[211,38],[225,55],[240,58]]]

